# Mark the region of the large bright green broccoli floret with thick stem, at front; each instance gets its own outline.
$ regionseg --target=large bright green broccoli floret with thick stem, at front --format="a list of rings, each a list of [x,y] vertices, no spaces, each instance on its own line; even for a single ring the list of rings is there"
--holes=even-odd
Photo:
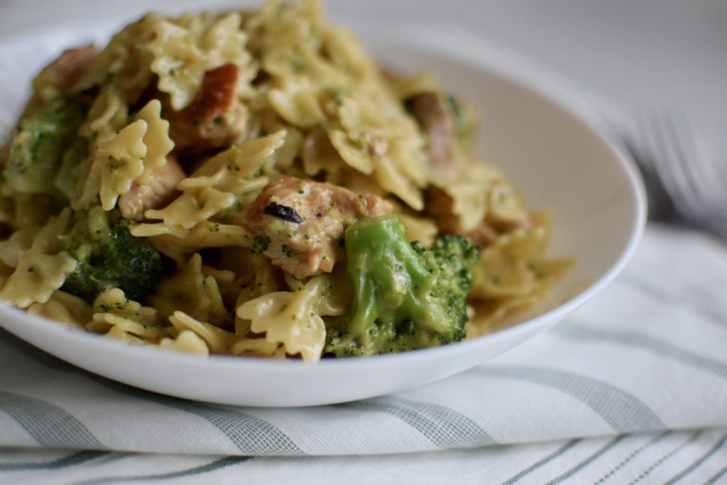
[[[345,233],[351,308],[328,332],[327,353],[371,356],[465,337],[467,296],[479,248],[441,236],[409,243],[394,215],[369,217]]]

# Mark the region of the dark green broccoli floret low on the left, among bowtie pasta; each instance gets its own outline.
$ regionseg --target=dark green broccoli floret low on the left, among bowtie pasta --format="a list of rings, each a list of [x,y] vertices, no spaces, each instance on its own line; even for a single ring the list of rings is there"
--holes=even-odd
[[[120,288],[134,301],[150,294],[163,276],[164,265],[148,239],[132,236],[133,225],[118,211],[93,207],[76,212],[63,243],[78,264],[61,289],[89,303],[109,288]]]

